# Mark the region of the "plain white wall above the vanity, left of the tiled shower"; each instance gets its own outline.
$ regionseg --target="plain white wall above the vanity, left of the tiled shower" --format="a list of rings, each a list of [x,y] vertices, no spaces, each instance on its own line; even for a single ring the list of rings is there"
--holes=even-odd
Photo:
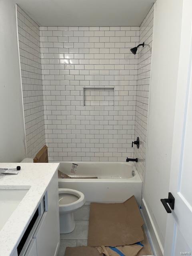
[[[25,156],[16,10],[0,1],[0,162],[20,162]]]

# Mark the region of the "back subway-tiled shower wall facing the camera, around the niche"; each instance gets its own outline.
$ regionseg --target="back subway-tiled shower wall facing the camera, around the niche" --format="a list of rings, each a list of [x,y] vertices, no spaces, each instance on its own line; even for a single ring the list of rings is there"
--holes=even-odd
[[[40,27],[51,161],[133,157],[140,27]],[[84,88],[114,87],[114,106],[84,106]],[[103,96],[103,95],[102,95]]]

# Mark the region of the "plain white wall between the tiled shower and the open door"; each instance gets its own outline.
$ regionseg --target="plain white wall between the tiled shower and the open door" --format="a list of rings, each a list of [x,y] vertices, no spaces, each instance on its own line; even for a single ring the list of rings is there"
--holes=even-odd
[[[143,200],[162,248],[167,212],[160,198],[169,192],[181,16],[182,1],[157,0]]]

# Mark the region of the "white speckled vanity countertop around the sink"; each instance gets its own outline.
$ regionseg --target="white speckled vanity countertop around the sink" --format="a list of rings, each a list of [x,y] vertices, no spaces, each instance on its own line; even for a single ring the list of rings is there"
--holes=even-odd
[[[13,166],[21,166],[21,170],[18,174],[6,174],[0,178],[0,189],[18,186],[30,189],[0,230],[0,256],[10,256],[17,247],[59,163],[0,163],[0,168]]]

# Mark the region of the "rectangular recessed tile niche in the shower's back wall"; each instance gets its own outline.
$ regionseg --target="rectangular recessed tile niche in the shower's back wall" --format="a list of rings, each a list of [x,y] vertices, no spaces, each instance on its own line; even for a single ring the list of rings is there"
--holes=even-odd
[[[114,88],[84,88],[84,106],[114,106]]]

